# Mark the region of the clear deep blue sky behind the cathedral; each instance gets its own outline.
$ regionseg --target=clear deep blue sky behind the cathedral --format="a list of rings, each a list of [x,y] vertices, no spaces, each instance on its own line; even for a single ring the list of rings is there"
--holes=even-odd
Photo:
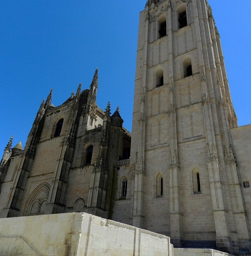
[[[62,104],[99,68],[97,103],[117,105],[131,130],[139,12],[146,0],[1,0],[0,158],[11,135],[25,145],[53,88]],[[239,125],[251,123],[250,0],[209,0],[221,35]]]

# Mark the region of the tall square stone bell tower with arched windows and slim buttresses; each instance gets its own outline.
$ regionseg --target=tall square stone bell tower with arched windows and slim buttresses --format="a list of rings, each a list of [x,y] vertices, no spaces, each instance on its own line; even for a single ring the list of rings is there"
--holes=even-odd
[[[174,246],[250,248],[234,127],[207,0],[148,0],[139,20],[132,224],[170,236]]]

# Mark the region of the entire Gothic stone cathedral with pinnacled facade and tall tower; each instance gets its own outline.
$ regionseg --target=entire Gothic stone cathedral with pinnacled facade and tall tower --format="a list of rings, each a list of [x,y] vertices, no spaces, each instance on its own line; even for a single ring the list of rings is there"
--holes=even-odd
[[[86,212],[174,247],[251,255],[251,125],[238,127],[207,0],[140,12],[132,134],[89,89],[42,101],[0,163],[0,218]]]

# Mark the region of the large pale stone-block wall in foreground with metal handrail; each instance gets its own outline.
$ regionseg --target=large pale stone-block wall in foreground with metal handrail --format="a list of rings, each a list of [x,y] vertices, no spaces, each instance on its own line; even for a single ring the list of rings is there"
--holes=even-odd
[[[173,256],[169,237],[86,213],[0,219],[0,234],[0,255]]]

